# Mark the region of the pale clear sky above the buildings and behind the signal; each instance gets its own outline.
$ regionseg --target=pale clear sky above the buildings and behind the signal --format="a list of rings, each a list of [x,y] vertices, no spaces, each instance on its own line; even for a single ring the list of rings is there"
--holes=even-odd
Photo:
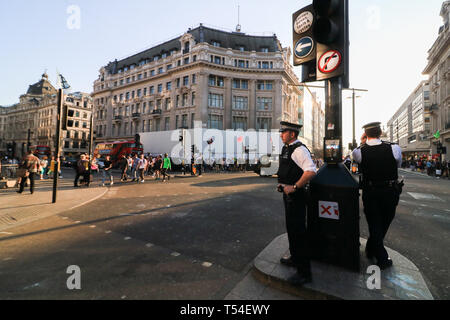
[[[109,61],[199,23],[234,30],[238,4],[242,32],[276,33],[284,47],[292,47],[292,14],[311,2],[2,1],[0,105],[18,102],[45,69],[53,83],[58,69],[74,91],[91,92],[98,70]],[[80,8],[79,29],[67,27],[71,5]],[[364,123],[386,123],[423,79],[427,51],[442,25],[441,5],[441,0],[350,0],[350,82],[369,90],[357,100],[357,140]],[[351,140],[350,102],[344,104],[344,144]]]

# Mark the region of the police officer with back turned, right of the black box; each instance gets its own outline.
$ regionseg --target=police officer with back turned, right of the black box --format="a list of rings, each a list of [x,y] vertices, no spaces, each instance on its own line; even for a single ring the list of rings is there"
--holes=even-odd
[[[380,124],[372,122],[363,127],[361,146],[352,155],[362,173],[362,199],[369,226],[366,256],[375,258],[383,270],[392,266],[383,241],[394,219],[403,181],[398,182],[402,150],[397,144],[380,140]]]

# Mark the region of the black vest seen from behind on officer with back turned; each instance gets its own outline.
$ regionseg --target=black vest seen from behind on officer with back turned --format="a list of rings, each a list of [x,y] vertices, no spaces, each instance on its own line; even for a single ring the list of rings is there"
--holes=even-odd
[[[383,141],[377,146],[363,145],[361,157],[363,183],[398,179],[397,161],[392,153],[391,143]]]

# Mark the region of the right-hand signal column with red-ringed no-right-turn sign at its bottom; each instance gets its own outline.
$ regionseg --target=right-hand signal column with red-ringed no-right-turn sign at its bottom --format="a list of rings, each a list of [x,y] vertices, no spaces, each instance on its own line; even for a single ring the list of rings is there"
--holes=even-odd
[[[348,0],[314,0],[317,80],[343,76],[349,87]]]

